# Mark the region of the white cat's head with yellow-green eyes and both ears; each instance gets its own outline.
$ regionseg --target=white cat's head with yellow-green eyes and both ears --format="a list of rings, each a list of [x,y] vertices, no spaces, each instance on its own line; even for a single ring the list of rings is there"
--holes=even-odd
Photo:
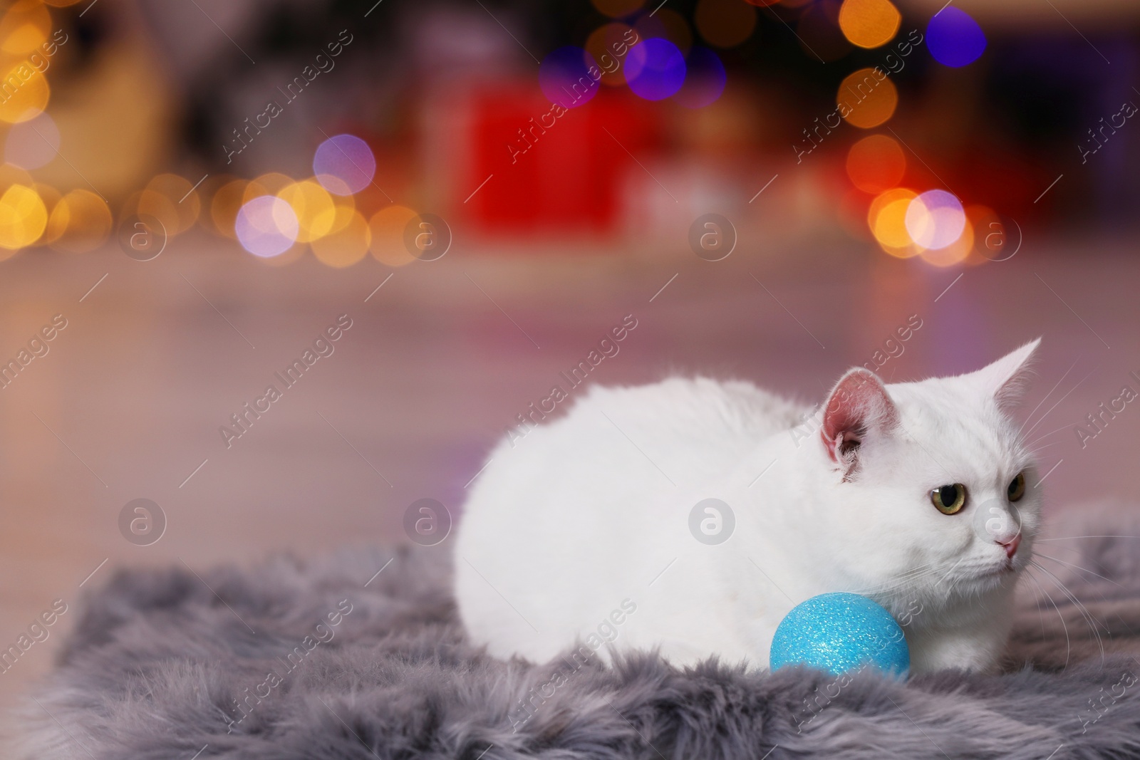
[[[1009,586],[1040,525],[1040,475],[1009,416],[1040,338],[975,373],[883,385],[849,370],[822,409],[829,531],[852,588],[895,607]]]

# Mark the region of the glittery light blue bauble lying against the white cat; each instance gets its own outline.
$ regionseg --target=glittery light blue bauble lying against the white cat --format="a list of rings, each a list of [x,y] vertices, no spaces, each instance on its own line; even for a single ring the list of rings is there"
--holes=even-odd
[[[905,678],[911,653],[889,612],[858,594],[821,594],[792,607],[776,628],[772,670],[807,665],[839,676],[863,664]]]

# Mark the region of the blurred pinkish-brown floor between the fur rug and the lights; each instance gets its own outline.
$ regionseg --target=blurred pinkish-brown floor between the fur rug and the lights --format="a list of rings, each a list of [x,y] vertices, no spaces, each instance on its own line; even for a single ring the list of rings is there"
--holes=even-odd
[[[1073,431],[1122,385],[1140,387],[1129,377],[1140,373],[1132,244],[1028,240],[958,280],[850,243],[742,242],[716,263],[682,248],[537,259],[457,244],[385,279],[391,270],[370,260],[271,267],[187,236],[145,263],[108,247],[35,251],[0,267],[0,360],[52,316],[67,320],[0,391],[0,648],[54,599],[71,605],[0,677],[0,706],[49,669],[81,594],[116,566],[201,569],[402,540],[404,510],[421,497],[458,512],[504,428],[626,314],[637,327],[594,382],[705,373],[811,401],[912,314],[922,327],[885,378],[971,370],[1043,335],[1025,409],[1056,385],[1032,435],[1050,434],[1042,473],[1062,460],[1048,476],[1050,508],[1134,490],[1140,410],[1129,404],[1083,449]],[[342,313],[352,327],[334,353],[227,449],[219,427],[268,384],[283,387],[274,373]],[[119,529],[139,497],[169,521],[147,547]]]

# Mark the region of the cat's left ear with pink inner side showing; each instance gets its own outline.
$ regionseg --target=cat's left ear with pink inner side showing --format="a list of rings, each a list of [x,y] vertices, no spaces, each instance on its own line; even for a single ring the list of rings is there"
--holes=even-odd
[[[823,408],[820,434],[831,459],[850,475],[858,448],[898,425],[898,409],[879,376],[856,367],[839,378]]]

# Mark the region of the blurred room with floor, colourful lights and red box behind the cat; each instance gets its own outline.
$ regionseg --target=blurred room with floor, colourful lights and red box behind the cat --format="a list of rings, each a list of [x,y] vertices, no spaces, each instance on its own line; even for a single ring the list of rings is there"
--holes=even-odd
[[[1138,43],[1126,0],[7,3],[0,704],[116,566],[458,518],[583,361],[814,403],[1043,335],[1049,509],[1130,497]]]

